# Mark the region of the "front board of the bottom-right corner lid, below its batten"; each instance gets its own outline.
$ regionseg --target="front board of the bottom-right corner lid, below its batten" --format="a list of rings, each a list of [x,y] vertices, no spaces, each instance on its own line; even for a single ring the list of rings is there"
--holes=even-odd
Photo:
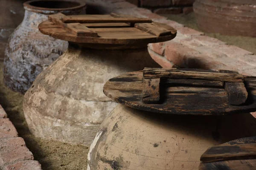
[[[256,170],[256,159],[201,163],[199,170]]]

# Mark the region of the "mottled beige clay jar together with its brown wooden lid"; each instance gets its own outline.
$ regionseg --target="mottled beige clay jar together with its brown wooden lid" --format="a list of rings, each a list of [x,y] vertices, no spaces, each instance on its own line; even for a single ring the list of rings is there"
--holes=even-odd
[[[111,15],[69,17],[87,22],[121,20]],[[147,44],[171,40],[176,30],[171,27],[174,32],[157,37],[126,23],[82,23],[82,26],[87,26],[85,31],[89,29],[89,33],[96,32],[98,37],[77,37],[58,25],[52,31],[46,28],[46,22],[39,25],[42,33],[67,40],[69,46],[35,79],[24,96],[23,110],[35,136],[90,146],[100,124],[116,106],[103,94],[105,82],[120,73],[160,67],[148,54]]]

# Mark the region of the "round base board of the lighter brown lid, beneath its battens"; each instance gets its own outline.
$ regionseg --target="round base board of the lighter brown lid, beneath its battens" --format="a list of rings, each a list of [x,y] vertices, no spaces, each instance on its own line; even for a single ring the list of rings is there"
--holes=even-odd
[[[96,24],[99,24],[99,23],[96,23]],[[106,23],[102,23],[102,24],[106,24]],[[125,24],[125,23],[122,23],[122,24]],[[86,24],[82,24],[82,25],[86,26]],[[47,26],[50,26],[50,27],[47,27]],[[106,26],[106,27],[109,28],[109,26]],[[127,27],[127,25],[125,27]],[[137,29],[137,31],[129,31],[131,27],[128,27],[126,31],[122,32],[123,27],[111,26],[112,29],[109,29],[108,31],[97,32],[99,37],[78,37],[49,21],[40,23],[38,28],[43,34],[46,34],[55,39],[60,39],[64,41],[71,41],[71,42],[78,42],[78,43],[91,43],[91,44],[94,44],[94,43],[112,44],[112,45],[135,45],[136,44],[139,47],[140,46],[145,47],[148,43],[156,43],[156,42],[172,40],[176,36],[176,34],[172,34],[172,35],[167,35],[163,37],[157,37],[145,31],[141,31],[140,29]],[[51,28],[58,28],[58,29],[52,30]],[[90,29],[94,31],[94,28],[97,29],[96,26],[93,26]],[[99,26],[99,28],[104,28],[104,26]],[[120,28],[120,30],[122,31],[116,30],[116,28]],[[132,28],[132,29],[136,29],[136,28]],[[110,33],[113,35],[111,35]]]

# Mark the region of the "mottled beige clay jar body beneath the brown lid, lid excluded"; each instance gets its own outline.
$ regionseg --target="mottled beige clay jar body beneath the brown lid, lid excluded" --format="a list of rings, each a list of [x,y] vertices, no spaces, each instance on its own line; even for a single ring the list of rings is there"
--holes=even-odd
[[[99,125],[116,106],[103,94],[105,82],[145,66],[160,67],[146,47],[92,47],[96,49],[70,43],[68,50],[39,74],[26,92],[24,115],[35,136],[90,146]]]

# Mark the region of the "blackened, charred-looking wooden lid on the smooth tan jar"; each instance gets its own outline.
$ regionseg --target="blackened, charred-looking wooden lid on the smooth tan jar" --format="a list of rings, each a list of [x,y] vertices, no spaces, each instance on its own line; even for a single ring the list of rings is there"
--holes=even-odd
[[[256,111],[256,77],[236,71],[145,68],[110,79],[104,93],[129,107],[158,113],[222,115]]]

